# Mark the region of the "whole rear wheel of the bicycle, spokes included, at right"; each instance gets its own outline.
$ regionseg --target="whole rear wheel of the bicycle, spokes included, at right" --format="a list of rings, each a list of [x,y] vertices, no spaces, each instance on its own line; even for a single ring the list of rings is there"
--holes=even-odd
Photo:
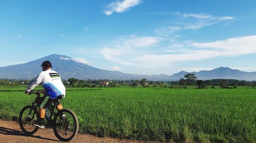
[[[63,119],[62,115],[66,118]],[[53,131],[61,141],[72,140],[78,132],[78,120],[75,113],[70,109],[61,109],[54,117]]]

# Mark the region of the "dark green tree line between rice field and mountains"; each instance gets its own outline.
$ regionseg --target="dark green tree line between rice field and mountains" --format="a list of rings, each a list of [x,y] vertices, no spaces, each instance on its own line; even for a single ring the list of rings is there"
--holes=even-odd
[[[18,85],[28,85],[31,80],[24,79],[0,79],[0,85],[15,87]],[[141,80],[109,80],[109,79],[77,79],[69,78],[68,80],[62,80],[65,87],[69,88],[96,88],[96,87],[120,87],[123,85],[130,85],[132,87],[161,87],[161,88],[186,88],[186,86],[196,86],[198,89],[207,87],[215,88],[237,88],[238,86],[256,87],[256,81],[246,81],[237,79],[211,79],[200,80],[197,79],[195,74],[186,74],[184,78],[180,78],[177,81],[148,81],[146,78]],[[108,82],[104,84],[102,82]]]

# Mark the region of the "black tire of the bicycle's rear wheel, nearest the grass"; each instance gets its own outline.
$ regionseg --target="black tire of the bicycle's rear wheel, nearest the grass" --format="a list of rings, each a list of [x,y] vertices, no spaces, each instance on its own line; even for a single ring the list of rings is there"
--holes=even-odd
[[[62,137],[62,136],[59,134],[58,129],[57,129],[57,126],[58,126],[57,124],[59,124],[59,123],[57,123],[57,119],[60,117],[60,115],[62,115],[62,113],[66,113],[66,116],[69,114],[70,117],[73,118],[74,123],[75,123],[74,129],[73,129],[73,131],[71,131],[71,132],[72,132],[72,135],[71,135],[70,137],[68,137],[68,138]],[[67,119],[67,120],[71,120],[71,119]],[[71,140],[75,137],[75,135],[77,134],[77,132],[78,132],[78,127],[79,127],[78,119],[77,119],[75,113],[74,113],[72,110],[70,110],[70,109],[61,109],[61,110],[59,110],[59,111],[56,113],[56,116],[54,117],[54,120],[53,120],[53,121],[54,121],[54,122],[53,122],[53,123],[54,123],[54,124],[53,124],[53,132],[54,132],[55,136],[56,136],[60,141],[71,141]],[[65,122],[66,122],[66,121],[65,121]]]

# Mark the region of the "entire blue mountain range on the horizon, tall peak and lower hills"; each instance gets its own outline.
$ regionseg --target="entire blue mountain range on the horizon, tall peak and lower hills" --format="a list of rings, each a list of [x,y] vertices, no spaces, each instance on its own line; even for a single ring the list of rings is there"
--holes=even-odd
[[[187,73],[194,73],[198,79],[239,79],[239,80],[256,80],[256,72],[243,72],[240,70],[233,70],[230,68],[220,67],[210,71],[186,72],[181,71],[173,75],[138,75],[128,74],[119,71],[109,71],[98,69],[86,64],[78,63],[66,55],[51,54],[44,58],[37,59],[25,64],[18,64],[6,67],[0,67],[0,78],[10,79],[28,79],[36,77],[41,72],[41,63],[44,61],[51,61],[53,70],[57,71],[62,79],[78,78],[78,79],[111,79],[111,80],[132,80],[147,78],[153,81],[169,81],[179,80],[184,78]]]

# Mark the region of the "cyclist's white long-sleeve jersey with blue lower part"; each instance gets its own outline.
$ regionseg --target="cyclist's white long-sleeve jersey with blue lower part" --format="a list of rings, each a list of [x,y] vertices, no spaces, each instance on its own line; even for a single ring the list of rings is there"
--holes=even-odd
[[[27,91],[33,90],[39,83],[42,82],[45,93],[52,99],[56,99],[59,95],[65,97],[66,89],[63,85],[59,74],[52,69],[42,71],[36,79],[34,79],[27,88]]]

